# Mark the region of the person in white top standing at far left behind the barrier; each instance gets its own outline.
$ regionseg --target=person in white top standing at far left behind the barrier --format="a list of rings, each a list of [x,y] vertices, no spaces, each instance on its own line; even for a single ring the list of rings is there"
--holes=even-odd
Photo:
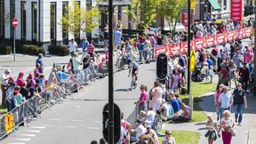
[[[10,69],[5,69],[4,73],[1,76],[1,92],[2,92],[2,106],[4,106],[4,101],[6,99],[6,90],[7,90],[7,85],[8,81],[10,79]]]

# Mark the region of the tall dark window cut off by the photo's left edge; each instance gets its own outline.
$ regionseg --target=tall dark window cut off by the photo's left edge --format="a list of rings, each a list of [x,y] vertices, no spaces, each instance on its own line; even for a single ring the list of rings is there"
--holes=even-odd
[[[4,40],[4,0],[0,0],[0,42]]]

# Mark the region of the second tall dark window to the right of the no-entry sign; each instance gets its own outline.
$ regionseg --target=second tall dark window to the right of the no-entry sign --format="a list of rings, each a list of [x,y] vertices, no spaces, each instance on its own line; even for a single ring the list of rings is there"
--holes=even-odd
[[[32,12],[32,43],[36,44],[37,40],[37,4],[36,2],[31,3]]]

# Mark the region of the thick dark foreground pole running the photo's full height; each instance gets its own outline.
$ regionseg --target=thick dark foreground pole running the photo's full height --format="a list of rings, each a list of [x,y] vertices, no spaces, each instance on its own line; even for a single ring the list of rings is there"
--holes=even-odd
[[[114,144],[113,0],[108,0],[108,143]]]

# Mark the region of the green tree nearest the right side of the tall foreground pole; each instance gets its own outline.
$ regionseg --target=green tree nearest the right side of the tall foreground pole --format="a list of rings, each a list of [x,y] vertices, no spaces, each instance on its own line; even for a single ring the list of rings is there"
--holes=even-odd
[[[126,8],[126,14],[135,23],[136,28],[148,28],[156,20],[156,7],[160,0],[132,0],[131,9]]]

